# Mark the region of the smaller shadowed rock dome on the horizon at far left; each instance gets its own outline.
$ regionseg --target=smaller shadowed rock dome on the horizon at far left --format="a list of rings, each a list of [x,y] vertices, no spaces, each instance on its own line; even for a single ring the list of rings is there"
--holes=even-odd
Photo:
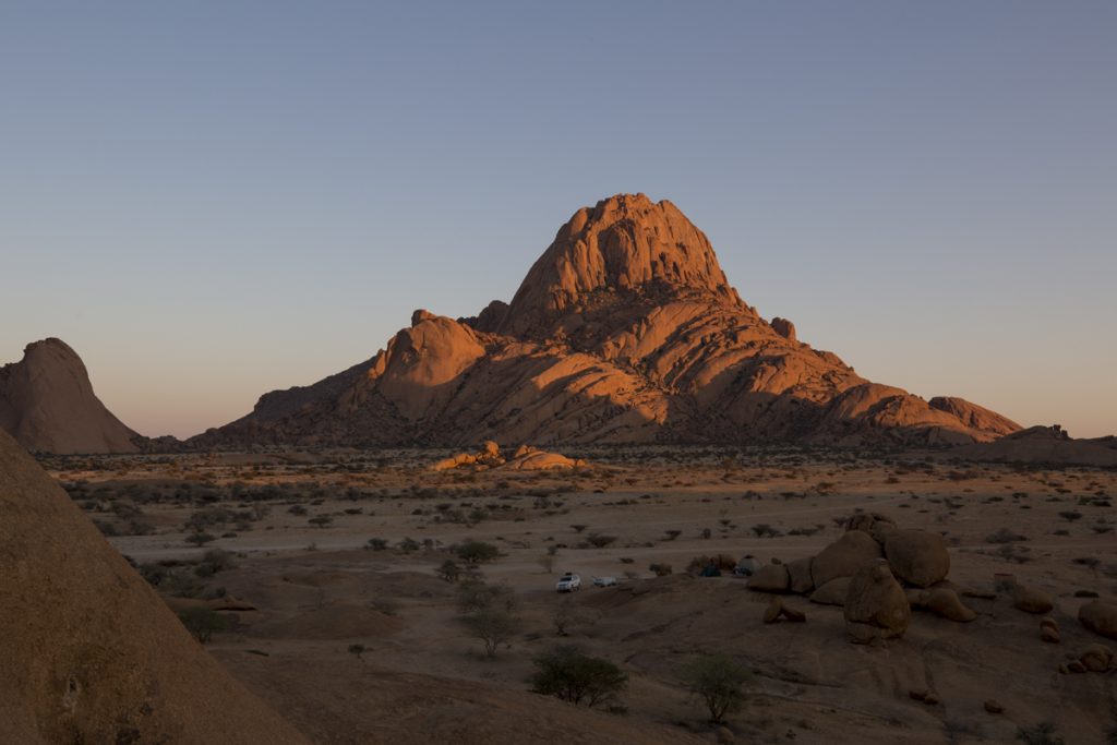
[[[134,452],[143,438],[97,399],[82,359],[57,338],[0,367],[0,429],[28,450]]]

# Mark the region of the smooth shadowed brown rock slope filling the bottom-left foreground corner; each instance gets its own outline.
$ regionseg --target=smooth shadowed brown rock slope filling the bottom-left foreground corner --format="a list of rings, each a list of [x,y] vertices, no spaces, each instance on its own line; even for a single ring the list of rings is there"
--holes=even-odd
[[[0,432],[0,742],[306,743]]]

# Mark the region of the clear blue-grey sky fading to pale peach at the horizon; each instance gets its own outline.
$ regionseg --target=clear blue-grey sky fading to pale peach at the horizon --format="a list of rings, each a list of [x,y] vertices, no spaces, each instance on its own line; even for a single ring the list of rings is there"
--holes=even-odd
[[[1117,3],[0,3],[0,363],[185,437],[675,202],[878,382],[1117,433]]]

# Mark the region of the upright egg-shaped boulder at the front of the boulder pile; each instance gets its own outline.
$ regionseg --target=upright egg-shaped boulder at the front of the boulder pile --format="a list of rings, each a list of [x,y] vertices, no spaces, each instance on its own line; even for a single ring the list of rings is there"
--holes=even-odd
[[[853,575],[844,614],[846,631],[856,643],[904,636],[911,623],[911,606],[888,562],[879,558]]]

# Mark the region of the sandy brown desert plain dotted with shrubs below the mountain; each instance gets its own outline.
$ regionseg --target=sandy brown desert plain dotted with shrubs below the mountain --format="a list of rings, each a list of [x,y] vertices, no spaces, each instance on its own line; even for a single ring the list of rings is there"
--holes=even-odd
[[[202,584],[258,610],[237,613],[210,649],[316,742],[714,742],[678,677],[704,651],[753,670],[746,704],[728,720],[737,742],[1012,742],[1021,728],[1051,722],[1067,743],[1104,743],[1117,727],[1113,670],[1057,670],[1088,643],[1117,647],[1077,621],[1086,595],[1117,596],[1111,470],[646,448],[571,453],[591,462],[573,472],[431,472],[445,455],[46,465],[94,518],[122,532],[128,519],[151,526],[150,535],[112,538],[137,564],[197,561],[212,548],[236,554],[233,569]],[[242,485],[239,498],[233,484]],[[277,488],[245,498],[267,485]],[[134,504],[139,516],[116,503]],[[202,547],[185,542],[184,523],[198,510],[265,506],[240,527],[208,526],[217,537]],[[1039,617],[1015,610],[1003,592],[967,598],[980,613],[972,623],[916,613],[903,639],[865,647],[846,641],[840,608],[791,596],[806,623],[765,625],[768,596],[744,580],[685,574],[698,555],[813,555],[857,510],[943,533],[960,585],[994,593],[994,575],[1011,573],[1050,593],[1062,643],[1042,643]],[[315,517],[330,522],[318,527],[308,522]],[[1024,539],[989,542],[1001,528]],[[591,536],[613,541],[594,547]],[[369,550],[370,538],[390,547]],[[405,538],[420,547],[400,548]],[[481,572],[519,600],[523,629],[495,659],[458,620],[455,585],[436,576],[449,547],[466,539],[499,547]],[[665,563],[671,575],[649,571]],[[556,594],[562,571],[577,572],[585,588]],[[590,586],[603,575],[619,584]],[[561,605],[574,618],[566,637],[555,631]],[[627,713],[586,713],[528,693],[533,658],[560,642],[629,674]],[[354,643],[367,649],[360,659],[349,651]],[[941,703],[910,696],[927,690]],[[990,699],[1003,714],[985,710]]]

